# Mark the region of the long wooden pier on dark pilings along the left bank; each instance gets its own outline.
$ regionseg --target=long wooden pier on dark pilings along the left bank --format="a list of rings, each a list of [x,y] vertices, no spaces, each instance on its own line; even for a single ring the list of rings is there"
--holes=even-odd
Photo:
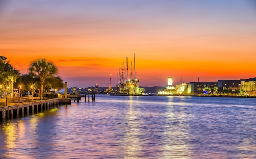
[[[65,99],[65,98],[64,98]],[[10,120],[13,118],[24,117],[24,115],[34,115],[56,108],[60,105],[60,98],[28,102],[24,104],[0,107],[0,118]],[[65,102],[65,101],[64,101]],[[67,100],[66,100],[67,102]],[[70,102],[70,100],[68,101]]]

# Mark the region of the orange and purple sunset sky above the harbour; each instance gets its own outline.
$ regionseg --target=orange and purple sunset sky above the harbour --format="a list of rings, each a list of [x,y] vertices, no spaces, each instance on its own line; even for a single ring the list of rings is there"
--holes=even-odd
[[[68,87],[115,86],[134,54],[141,87],[256,77],[256,2],[0,0],[0,55],[21,74],[45,58]]]

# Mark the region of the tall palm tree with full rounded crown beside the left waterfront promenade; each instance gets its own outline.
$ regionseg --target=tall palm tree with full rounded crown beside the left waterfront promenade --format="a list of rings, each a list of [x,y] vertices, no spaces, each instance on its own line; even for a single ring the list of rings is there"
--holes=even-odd
[[[46,59],[37,59],[31,62],[29,75],[34,78],[39,78],[41,85],[41,100],[43,97],[43,85],[45,83],[45,79],[52,78],[56,74],[58,74],[58,69],[51,61],[47,61]]]

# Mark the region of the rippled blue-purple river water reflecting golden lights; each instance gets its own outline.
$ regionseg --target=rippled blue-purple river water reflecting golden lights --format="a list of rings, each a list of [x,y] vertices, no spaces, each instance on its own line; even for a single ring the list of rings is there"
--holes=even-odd
[[[256,159],[256,98],[109,96],[0,124],[0,158]]]

